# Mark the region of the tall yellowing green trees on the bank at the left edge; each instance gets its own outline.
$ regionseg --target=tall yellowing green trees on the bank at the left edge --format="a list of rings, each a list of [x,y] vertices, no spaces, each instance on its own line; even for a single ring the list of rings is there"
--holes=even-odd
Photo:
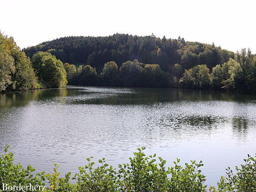
[[[14,39],[0,33],[0,91],[37,88],[37,78]]]

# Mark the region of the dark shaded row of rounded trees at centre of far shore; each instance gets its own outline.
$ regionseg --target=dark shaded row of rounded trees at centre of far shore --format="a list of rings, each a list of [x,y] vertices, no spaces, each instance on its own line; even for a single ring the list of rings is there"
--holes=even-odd
[[[105,63],[102,73],[97,76],[96,69],[90,65],[79,66],[70,84],[107,85],[128,87],[169,87],[169,74],[158,64],[143,64],[138,60],[126,61],[118,70],[114,61]]]

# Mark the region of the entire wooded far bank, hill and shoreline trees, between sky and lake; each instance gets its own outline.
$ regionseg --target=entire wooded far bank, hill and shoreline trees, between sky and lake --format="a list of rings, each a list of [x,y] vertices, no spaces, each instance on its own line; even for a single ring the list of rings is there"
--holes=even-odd
[[[256,56],[250,49],[234,53],[214,43],[154,34],[65,37],[23,51],[0,34],[0,69],[0,91],[68,83],[256,93]]]

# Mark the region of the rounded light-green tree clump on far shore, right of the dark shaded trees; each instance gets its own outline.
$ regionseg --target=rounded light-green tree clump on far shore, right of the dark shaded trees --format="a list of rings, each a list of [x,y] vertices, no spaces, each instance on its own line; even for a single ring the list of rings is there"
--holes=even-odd
[[[180,84],[186,88],[209,88],[211,75],[209,68],[206,65],[197,65],[192,69],[185,70],[183,77],[180,79]]]

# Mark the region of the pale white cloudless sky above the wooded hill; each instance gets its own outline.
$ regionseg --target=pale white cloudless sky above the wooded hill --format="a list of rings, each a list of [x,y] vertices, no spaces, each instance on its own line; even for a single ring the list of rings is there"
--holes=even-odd
[[[64,36],[151,35],[256,53],[255,0],[0,0],[20,48]]]

